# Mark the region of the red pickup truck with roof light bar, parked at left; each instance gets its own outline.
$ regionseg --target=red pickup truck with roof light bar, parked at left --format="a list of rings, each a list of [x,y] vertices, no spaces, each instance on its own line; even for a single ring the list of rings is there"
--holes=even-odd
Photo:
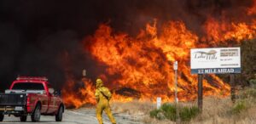
[[[20,117],[26,121],[40,121],[40,116],[55,116],[62,120],[64,104],[46,77],[19,76],[9,90],[0,93],[0,121],[4,115]]]

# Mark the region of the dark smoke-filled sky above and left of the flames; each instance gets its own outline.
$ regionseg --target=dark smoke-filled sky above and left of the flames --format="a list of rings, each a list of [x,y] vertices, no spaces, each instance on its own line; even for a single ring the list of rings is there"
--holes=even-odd
[[[81,41],[101,23],[132,36],[154,19],[158,24],[183,20],[201,34],[208,16],[242,20],[251,5],[252,0],[1,0],[0,89],[17,75],[48,76],[61,86],[66,65],[75,76],[84,68],[96,76],[99,65],[84,53]]]

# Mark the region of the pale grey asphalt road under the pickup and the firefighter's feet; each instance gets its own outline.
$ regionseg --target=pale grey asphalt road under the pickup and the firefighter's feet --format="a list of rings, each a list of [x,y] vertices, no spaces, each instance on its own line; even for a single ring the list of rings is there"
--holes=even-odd
[[[136,117],[129,116],[125,113],[114,113],[113,116],[120,124],[143,124],[142,122],[136,121]],[[103,114],[104,124],[111,124],[108,117]],[[3,122],[6,124],[10,123],[21,123],[20,118],[15,116],[4,116]],[[38,124],[97,124],[95,109],[79,109],[79,110],[65,110],[63,115],[63,120],[61,122],[55,121],[55,116],[41,116],[40,122]],[[27,117],[27,122],[22,122],[22,124],[32,124],[31,117]]]

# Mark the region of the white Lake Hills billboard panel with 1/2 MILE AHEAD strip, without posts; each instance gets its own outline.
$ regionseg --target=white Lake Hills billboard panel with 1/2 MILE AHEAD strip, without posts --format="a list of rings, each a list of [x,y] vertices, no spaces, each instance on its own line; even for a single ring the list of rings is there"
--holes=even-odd
[[[192,74],[241,73],[240,48],[194,48],[190,50]]]

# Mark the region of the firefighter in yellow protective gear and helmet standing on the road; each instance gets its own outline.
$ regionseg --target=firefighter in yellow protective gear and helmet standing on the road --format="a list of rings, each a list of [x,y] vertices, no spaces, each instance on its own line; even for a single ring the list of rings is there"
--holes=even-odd
[[[103,124],[102,121],[102,111],[104,110],[105,113],[108,115],[109,120],[116,124],[112,112],[110,110],[109,100],[111,99],[111,93],[108,90],[108,87],[103,87],[102,79],[96,79],[96,117],[99,121],[99,124]]]

